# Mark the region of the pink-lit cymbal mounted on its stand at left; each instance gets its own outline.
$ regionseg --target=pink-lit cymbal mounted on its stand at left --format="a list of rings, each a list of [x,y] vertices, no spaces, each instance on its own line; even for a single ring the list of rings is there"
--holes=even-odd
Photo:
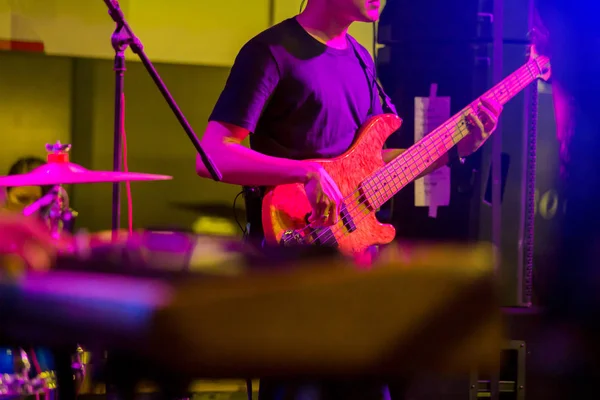
[[[2,176],[0,186],[47,186],[170,179],[173,177],[139,172],[92,171],[71,162],[50,162],[25,174]]]

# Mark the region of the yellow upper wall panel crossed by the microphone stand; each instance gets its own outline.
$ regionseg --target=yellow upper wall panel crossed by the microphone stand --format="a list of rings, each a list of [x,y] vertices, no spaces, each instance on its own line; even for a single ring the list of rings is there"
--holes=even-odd
[[[10,22],[0,28],[0,39],[41,41],[51,55],[114,57],[110,38],[115,23],[101,0],[0,1],[0,22]],[[153,62],[230,66],[239,48],[268,26],[269,1],[119,4]],[[128,59],[136,57],[128,51]]]

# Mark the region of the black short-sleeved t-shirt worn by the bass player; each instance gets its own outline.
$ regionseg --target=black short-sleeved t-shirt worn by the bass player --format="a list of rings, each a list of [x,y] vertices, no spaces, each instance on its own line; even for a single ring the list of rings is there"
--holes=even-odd
[[[334,49],[291,18],[244,45],[209,120],[248,129],[251,147],[264,154],[335,157],[368,117],[383,113],[374,77],[369,52],[354,38]]]

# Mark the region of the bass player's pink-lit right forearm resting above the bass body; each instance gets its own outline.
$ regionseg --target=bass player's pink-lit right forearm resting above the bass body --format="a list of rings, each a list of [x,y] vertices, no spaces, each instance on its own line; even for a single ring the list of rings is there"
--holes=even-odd
[[[315,170],[311,163],[266,156],[239,143],[221,143],[205,150],[223,175],[223,182],[234,185],[304,183]],[[196,172],[204,178],[211,177],[200,155],[196,156]]]

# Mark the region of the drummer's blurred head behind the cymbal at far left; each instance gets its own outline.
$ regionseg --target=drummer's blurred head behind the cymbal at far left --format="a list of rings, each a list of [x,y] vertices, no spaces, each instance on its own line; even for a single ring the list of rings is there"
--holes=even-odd
[[[38,157],[23,157],[15,161],[8,170],[8,175],[25,174],[35,168],[46,164]],[[8,187],[4,190],[4,196],[0,196],[0,211],[23,212],[23,209],[39,200],[45,192],[41,186],[18,186]],[[4,197],[4,199],[2,199]]]

